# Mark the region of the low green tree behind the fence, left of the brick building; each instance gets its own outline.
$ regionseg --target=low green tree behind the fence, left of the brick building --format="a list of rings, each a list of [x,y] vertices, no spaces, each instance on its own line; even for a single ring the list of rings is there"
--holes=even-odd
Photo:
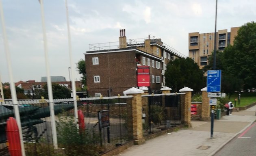
[[[48,99],[48,87],[47,85],[43,86],[43,96]],[[59,84],[52,83],[52,95],[54,99],[65,99],[71,98],[70,90],[65,86],[60,86]],[[41,98],[41,97],[40,97]]]

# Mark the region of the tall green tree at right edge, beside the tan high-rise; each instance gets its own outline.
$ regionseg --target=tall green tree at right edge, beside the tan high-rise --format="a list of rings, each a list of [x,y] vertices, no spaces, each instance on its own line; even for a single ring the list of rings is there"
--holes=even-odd
[[[234,44],[225,48],[225,65],[229,73],[244,81],[244,89],[256,87],[256,23],[241,26]]]

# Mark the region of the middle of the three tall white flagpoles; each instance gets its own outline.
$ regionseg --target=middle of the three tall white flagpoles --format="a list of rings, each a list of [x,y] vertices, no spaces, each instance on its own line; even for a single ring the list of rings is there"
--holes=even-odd
[[[46,61],[47,88],[48,88],[48,97],[49,97],[49,103],[50,103],[52,139],[53,139],[54,149],[58,149],[55,115],[54,115],[54,103],[53,103],[53,96],[52,96],[52,81],[50,78],[50,67],[49,67],[49,61],[48,61],[46,26],[45,26],[44,13],[43,13],[43,0],[39,0],[39,2],[41,6],[41,17],[42,17],[42,27],[43,27],[43,45],[44,45],[44,54],[45,54],[45,61]]]

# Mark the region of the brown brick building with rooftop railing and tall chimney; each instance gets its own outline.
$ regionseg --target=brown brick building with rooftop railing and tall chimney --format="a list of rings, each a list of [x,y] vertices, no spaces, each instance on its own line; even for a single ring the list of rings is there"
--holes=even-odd
[[[150,68],[150,90],[165,85],[165,69],[170,60],[186,57],[152,37],[127,40],[120,30],[119,42],[89,45],[85,53],[87,91],[90,96],[122,95],[123,91],[137,87],[137,67]]]

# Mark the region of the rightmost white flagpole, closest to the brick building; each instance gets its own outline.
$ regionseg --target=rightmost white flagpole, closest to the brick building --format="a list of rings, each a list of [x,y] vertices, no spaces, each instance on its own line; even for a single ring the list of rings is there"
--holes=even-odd
[[[69,16],[68,16],[68,8],[67,8],[67,0],[65,0],[66,4],[66,14],[67,14],[67,35],[68,35],[68,45],[69,45],[69,62],[71,67],[71,80],[72,80],[72,92],[73,92],[73,100],[74,100],[74,110],[75,110],[75,122],[78,123],[78,112],[77,112],[77,99],[76,99],[76,83],[74,78],[74,64],[72,57],[72,46],[71,46],[71,37],[69,30]]]

